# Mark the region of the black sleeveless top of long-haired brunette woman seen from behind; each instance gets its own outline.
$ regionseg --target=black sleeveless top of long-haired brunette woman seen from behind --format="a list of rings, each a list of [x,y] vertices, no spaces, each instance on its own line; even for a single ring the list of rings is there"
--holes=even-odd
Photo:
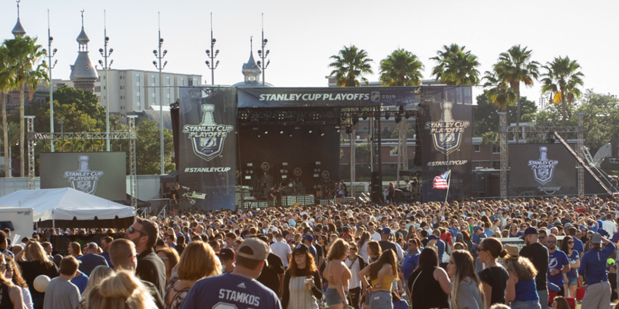
[[[413,309],[449,308],[449,295],[434,279],[436,267],[415,269],[409,276],[408,287]]]

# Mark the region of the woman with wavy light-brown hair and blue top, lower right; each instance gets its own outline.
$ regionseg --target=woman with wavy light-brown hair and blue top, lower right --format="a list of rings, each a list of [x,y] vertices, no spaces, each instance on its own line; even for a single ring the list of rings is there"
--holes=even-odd
[[[537,269],[528,258],[519,256],[518,247],[504,245],[508,255],[503,258],[509,274],[505,289],[505,300],[512,309],[540,309],[540,297],[535,286]]]

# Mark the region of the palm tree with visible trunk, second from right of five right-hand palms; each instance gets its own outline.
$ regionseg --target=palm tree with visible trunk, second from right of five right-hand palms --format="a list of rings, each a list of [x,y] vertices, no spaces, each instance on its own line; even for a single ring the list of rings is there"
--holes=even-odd
[[[508,51],[501,53],[499,61],[493,66],[497,77],[509,83],[511,90],[516,93],[516,126],[520,125],[520,83],[526,87],[533,86],[533,80],[539,76],[539,62],[531,61],[531,50],[514,45]],[[518,136],[516,134],[516,142]]]

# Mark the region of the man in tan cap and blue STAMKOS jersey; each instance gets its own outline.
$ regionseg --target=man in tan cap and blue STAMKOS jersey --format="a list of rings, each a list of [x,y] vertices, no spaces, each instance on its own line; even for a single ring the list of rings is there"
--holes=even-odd
[[[181,309],[281,309],[268,287],[256,281],[267,266],[269,245],[256,237],[241,242],[232,273],[201,279],[191,287]]]

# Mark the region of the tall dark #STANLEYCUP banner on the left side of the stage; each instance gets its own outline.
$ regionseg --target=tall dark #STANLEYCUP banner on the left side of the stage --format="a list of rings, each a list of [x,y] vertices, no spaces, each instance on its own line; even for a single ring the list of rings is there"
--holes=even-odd
[[[236,88],[180,88],[179,174],[196,208],[235,208]]]

